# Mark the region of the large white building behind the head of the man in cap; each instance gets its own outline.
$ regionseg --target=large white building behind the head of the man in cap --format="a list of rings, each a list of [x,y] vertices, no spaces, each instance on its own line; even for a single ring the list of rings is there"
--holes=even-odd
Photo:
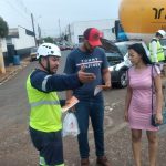
[[[73,44],[79,44],[82,42],[83,32],[87,28],[96,28],[103,32],[103,38],[114,40],[115,34],[112,32],[112,28],[114,28],[114,25],[115,19],[73,22],[69,27],[69,38]]]

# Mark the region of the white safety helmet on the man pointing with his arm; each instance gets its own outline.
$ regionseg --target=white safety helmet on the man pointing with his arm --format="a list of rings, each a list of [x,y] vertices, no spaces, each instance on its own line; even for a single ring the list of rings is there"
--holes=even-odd
[[[37,59],[40,56],[61,56],[61,51],[58,45],[52,43],[43,43],[37,50]]]

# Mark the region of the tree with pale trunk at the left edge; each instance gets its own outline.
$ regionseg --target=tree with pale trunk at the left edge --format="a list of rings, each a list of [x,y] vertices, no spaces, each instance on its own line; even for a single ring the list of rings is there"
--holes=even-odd
[[[0,72],[1,73],[6,73],[1,38],[6,38],[8,35],[8,31],[9,31],[8,23],[0,17]]]

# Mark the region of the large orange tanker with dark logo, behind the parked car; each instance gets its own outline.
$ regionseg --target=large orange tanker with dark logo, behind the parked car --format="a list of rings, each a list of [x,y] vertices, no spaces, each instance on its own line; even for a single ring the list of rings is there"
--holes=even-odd
[[[148,43],[156,31],[166,31],[166,0],[122,0],[118,18],[128,39]]]

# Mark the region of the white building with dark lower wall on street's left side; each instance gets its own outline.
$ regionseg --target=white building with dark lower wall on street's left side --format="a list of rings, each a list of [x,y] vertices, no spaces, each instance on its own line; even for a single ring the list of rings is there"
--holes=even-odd
[[[35,46],[34,33],[20,25],[9,29],[6,42],[6,46],[2,46],[2,52],[7,65],[12,63],[13,55],[20,55],[20,59],[22,59],[30,54],[31,48]]]

